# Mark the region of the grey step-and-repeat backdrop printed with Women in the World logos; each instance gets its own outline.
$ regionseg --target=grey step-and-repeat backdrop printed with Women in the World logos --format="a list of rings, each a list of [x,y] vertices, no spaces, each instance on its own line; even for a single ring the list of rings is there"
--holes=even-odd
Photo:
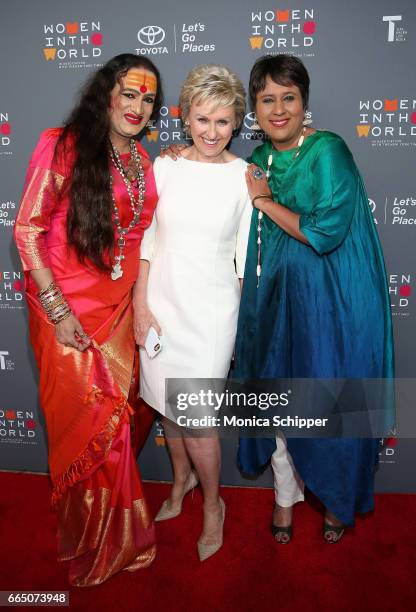
[[[248,84],[264,54],[293,53],[311,76],[313,126],[340,134],[367,185],[390,285],[397,376],[414,379],[416,262],[416,3],[414,0],[14,0],[0,22],[0,469],[47,471],[47,443],[28,344],[23,273],[12,241],[26,165],[39,133],[58,126],[89,73],[131,52],[159,67],[166,93],[142,144],[154,157],[181,142],[178,94],[198,64],[223,63]],[[261,135],[247,109],[232,150],[243,157]],[[368,313],[371,317],[371,312]],[[379,491],[416,492],[416,441],[380,446]],[[236,441],[225,440],[222,482],[245,480]],[[170,479],[159,423],[140,458],[142,474]]]

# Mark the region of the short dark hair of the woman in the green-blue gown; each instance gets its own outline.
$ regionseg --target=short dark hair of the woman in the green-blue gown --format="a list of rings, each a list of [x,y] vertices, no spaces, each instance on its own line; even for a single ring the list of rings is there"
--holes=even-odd
[[[297,85],[303,108],[306,110],[309,100],[309,74],[300,59],[294,55],[279,54],[265,55],[256,61],[251,69],[248,86],[253,109],[256,106],[257,94],[266,87],[267,76],[278,85]]]

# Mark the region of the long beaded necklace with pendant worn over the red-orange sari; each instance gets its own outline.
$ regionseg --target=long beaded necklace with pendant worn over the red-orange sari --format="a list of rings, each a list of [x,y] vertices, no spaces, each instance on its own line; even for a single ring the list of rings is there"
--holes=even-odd
[[[121,262],[124,259],[123,251],[126,246],[126,235],[132,230],[140,221],[140,214],[143,210],[144,205],[144,196],[145,196],[145,180],[144,180],[144,170],[141,162],[141,157],[137,152],[136,144],[133,139],[130,140],[130,152],[131,158],[128,165],[128,169],[126,170],[121,162],[120,154],[117,151],[116,147],[110,142],[110,158],[111,161],[120,174],[123,182],[126,186],[127,193],[130,197],[130,206],[133,213],[133,218],[127,227],[121,226],[120,221],[120,212],[117,207],[116,199],[114,197],[113,192],[113,177],[110,173],[110,189],[111,189],[111,199],[113,201],[113,211],[114,211],[114,225],[118,231],[118,255],[114,257],[114,263],[111,270],[111,280],[117,280],[123,276],[123,268],[121,266]],[[139,191],[138,198],[136,200],[132,181],[136,181],[136,187]]]

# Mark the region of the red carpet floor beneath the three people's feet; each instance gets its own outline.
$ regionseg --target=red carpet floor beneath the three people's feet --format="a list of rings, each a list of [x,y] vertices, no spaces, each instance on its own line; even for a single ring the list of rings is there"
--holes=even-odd
[[[0,590],[68,590],[55,560],[55,518],[44,476],[0,473]],[[145,484],[157,511],[168,485]],[[337,545],[320,535],[316,504],[296,507],[294,539],[274,544],[269,490],[223,488],[225,544],[200,564],[201,494],[157,524],[154,564],[105,584],[70,590],[70,609],[91,611],[401,611],[416,609],[416,495],[378,495]]]

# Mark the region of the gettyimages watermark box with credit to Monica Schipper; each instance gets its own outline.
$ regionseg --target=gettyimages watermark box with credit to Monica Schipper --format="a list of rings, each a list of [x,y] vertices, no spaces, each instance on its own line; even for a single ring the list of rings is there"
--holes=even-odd
[[[395,424],[392,379],[170,378],[165,397],[166,416],[187,435],[386,437]]]

